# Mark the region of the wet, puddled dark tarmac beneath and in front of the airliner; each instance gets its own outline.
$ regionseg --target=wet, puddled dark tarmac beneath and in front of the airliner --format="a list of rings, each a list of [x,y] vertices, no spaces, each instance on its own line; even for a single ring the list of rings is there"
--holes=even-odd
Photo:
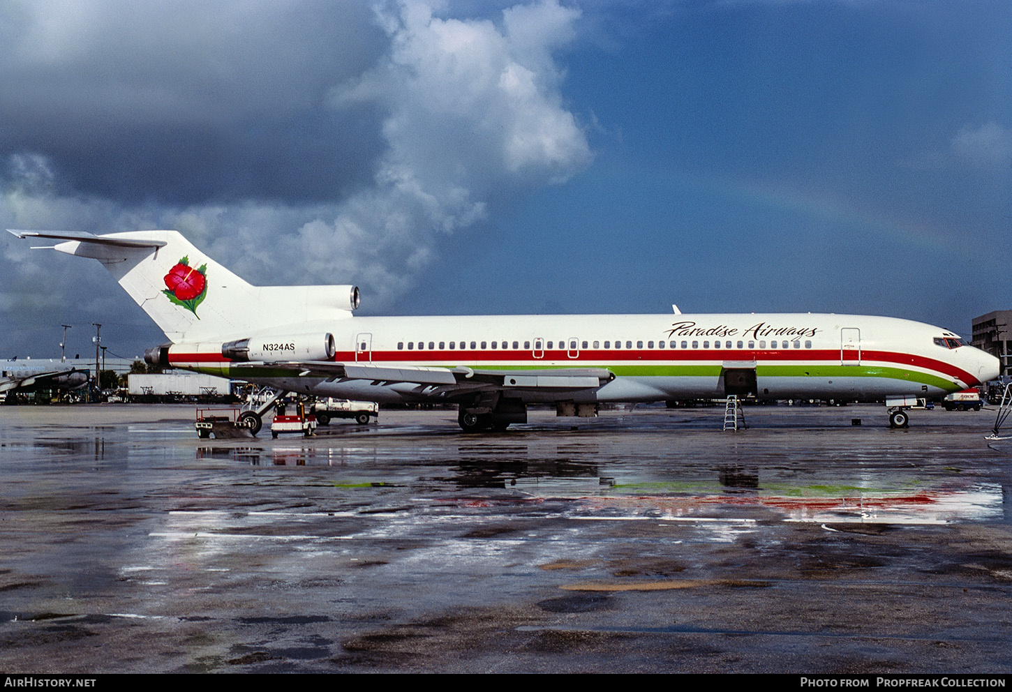
[[[0,407],[0,669],[1012,672],[991,409],[193,413]]]

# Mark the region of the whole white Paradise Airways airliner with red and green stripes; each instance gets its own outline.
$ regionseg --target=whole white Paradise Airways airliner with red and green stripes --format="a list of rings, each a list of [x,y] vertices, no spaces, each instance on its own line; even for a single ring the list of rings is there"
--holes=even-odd
[[[906,427],[918,398],[999,371],[956,334],[895,318],[353,317],[355,286],[253,286],[175,231],[11,233],[105,265],[169,339],[149,362],[322,397],[456,404],[466,431],[524,423],[529,404],[592,416],[602,402],[732,395],[884,401]],[[258,430],[259,415],[244,415]]]

